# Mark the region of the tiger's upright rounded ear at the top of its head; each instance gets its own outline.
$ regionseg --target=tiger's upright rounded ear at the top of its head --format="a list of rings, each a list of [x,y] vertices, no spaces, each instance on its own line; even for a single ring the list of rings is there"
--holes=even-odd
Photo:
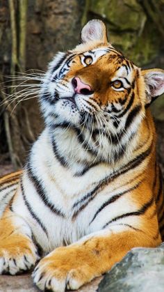
[[[88,43],[92,40],[108,43],[106,26],[101,20],[90,20],[81,31],[82,43]]]

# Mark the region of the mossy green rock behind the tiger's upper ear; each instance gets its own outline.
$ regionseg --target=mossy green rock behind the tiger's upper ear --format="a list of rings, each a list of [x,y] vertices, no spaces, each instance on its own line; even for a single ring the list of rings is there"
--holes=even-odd
[[[104,19],[115,47],[138,66],[146,66],[155,59],[161,39],[137,0],[88,1],[90,16]]]

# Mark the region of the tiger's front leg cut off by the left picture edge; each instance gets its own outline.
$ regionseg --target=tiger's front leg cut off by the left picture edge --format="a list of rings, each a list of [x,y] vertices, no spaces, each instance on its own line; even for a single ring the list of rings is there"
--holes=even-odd
[[[39,259],[26,222],[9,209],[0,220],[0,274],[29,270]]]

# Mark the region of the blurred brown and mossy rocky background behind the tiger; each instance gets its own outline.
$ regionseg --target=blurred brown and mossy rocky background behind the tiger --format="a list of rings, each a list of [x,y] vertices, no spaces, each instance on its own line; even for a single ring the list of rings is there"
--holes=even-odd
[[[43,127],[37,98],[5,102],[21,72],[47,70],[58,50],[79,43],[81,27],[92,18],[106,22],[110,42],[138,66],[164,69],[163,15],[164,0],[1,0],[0,174],[10,170],[10,162],[13,169],[22,167]],[[151,108],[164,165],[164,98]]]

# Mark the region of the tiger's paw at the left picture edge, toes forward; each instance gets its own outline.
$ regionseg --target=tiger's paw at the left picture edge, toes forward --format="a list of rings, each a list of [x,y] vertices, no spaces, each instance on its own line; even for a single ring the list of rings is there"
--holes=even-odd
[[[16,275],[30,270],[40,258],[31,240],[0,248],[0,275]]]

